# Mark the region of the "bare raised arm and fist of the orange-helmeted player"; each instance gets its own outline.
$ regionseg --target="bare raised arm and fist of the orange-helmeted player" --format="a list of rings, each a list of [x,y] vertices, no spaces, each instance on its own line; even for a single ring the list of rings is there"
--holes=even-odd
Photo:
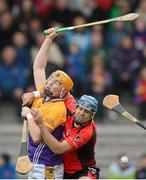
[[[45,69],[48,62],[48,51],[53,39],[57,36],[55,28],[50,28],[47,31],[50,34],[46,36],[33,65],[33,74],[36,89],[38,89],[39,85],[44,84],[46,81]]]

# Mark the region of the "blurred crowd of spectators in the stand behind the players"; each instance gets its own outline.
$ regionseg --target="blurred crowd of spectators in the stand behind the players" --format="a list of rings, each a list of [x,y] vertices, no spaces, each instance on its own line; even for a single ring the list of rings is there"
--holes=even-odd
[[[33,91],[33,62],[48,27],[79,25],[139,13],[134,22],[115,22],[60,33],[48,52],[56,69],[74,80],[73,94],[95,96],[102,121],[103,97],[127,93],[146,119],[146,0],[0,0],[0,102]]]

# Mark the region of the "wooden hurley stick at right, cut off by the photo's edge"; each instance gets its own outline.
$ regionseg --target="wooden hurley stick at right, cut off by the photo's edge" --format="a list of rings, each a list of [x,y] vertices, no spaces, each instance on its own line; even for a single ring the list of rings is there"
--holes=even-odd
[[[107,95],[107,96],[105,96],[105,98],[103,99],[103,105],[106,108],[111,109],[111,110],[115,111],[116,113],[119,113],[120,115],[124,116],[128,120],[134,122],[135,124],[137,124],[138,126],[140,126],[140,127],[142,127],[143,129],[146,130],[146,125],[144,125],[143,122],[139,121],[134,116],[129,114],[121,106],[121,104],[119,102],[119,96],[117,96],[117,95]]]

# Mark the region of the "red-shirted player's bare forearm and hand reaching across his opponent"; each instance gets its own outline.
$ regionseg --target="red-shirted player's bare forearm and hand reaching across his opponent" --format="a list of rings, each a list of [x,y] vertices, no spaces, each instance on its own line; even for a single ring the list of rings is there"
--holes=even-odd
[[[31,109],[31,114],[33,116],[34,121],[38,125],[41,135],[45,141],[45,143],[49,146],[51,151],[55,154],[63,154],[67,151],[71,150],[71,146],[67,141],[59,142],[54,136],[51,135],[49,132],[48,128],[44,125],[42,116],[39,113],[38,110],[32,108]]]

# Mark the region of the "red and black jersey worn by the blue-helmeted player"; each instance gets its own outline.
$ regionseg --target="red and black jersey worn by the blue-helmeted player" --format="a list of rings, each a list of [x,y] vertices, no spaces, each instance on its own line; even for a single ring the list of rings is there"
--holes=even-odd
[[[73,102],[74,98],[70,98]],[[74,104],[74,103],[73,103]],[[70,110],[73,110],[71,108]],[[62,155],[64,162],[64,171],[73,174],[84,167],[95,167],[95,143],[96,143],[96,125],[91,121],[85,127],[74,127],[72,115],[68,115],[65,124],[63,139],[66,140],[72,151]]]

